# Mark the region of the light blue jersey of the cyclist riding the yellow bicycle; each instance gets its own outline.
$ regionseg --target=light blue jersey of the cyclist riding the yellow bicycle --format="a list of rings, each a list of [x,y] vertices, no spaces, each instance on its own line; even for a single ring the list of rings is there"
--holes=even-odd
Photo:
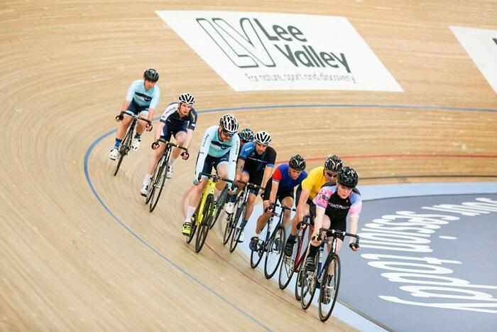
[[[228,141],[221,141],[219,139],[219,126],[214,125],[207,128],[202,137],[202,144],[200,145],[199,157],[197,159],[197,167],[195,168],[195,178],[198,178],[204,167],[207,155],[214,158],[220,158],[229,152],[228,159],[228,178],[235,179],[236,174],[236,159],[240,149],[240,139],[238,134],[234,134]]]

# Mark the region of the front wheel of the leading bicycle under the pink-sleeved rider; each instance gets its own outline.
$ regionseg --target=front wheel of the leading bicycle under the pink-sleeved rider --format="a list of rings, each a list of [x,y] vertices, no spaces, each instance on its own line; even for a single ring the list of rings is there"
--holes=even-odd
[[[334,254],[329,261],[329,268],[324,269],[321,282],[319,304],[321,321],[327,321],[332,314],[340,286],[340,257]]]

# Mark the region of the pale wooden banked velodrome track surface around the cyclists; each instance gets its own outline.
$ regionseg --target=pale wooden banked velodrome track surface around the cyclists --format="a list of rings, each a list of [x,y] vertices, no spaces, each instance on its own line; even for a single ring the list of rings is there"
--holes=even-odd
[[[176,166],[151,214],[138,195],[151,134],[116,177],[107,156],[114,134],[94,145],[89,178],[85,154],[116,128],[130,82],[152,67],[158,113],[184,91],[199,110],[413,106],[236,112],[241,127],[273,134],[279,161],[300,153],[314,167],[338,154],[361,184],[496,181],[497,112],[428,107],[497,109],[449,29],[497,28],[497,5],[436,3],[1,1],[0,330],[352,330],[302,311],[244,255],[229,255],[217,227],[199,255],[185,245],[182,195],[195,158]],[[405,92],[234,92],[154,13],[180,9],[346,16]],[[220,115],[200,115],[192,156]]]

